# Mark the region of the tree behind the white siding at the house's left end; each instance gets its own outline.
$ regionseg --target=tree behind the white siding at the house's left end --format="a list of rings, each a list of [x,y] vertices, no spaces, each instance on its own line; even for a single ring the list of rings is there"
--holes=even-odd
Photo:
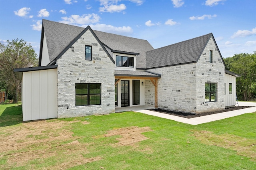
[[[7,40],[7,45],[0,43],[0,61],[0,82],[6,84],[6,96],[9,94],[13,102],[17,103],[21,83],[16,80],[14,68],[37,66],[37,55],[32,46],[27,45],[23,39]]]

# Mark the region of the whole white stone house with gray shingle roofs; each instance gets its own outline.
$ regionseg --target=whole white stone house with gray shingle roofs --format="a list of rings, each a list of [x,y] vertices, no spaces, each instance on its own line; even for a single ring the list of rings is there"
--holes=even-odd
[[[42,21],[39,66],[22,80],[23,121],[153,106],[200,114],[235,106],[236,76],[212,33],[154,49],[146,40]]]

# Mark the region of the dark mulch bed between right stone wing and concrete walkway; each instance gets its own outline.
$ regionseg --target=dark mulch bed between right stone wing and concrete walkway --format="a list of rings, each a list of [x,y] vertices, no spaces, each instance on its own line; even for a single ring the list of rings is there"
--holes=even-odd
[[[174,115],[174,116],[180,116],[180,117],[185,117],[185,118],[194,118],[194,117],[200,117],[200,116],[206,116],[206,115],[212,115],[212,114],[216,114],[216,113],[222,113],[222,112],[226,112],[226,111],[233,111],[233,110],[239,110],[239,109],[245,109],[251,106],[236,106],[236,107],[230,107],[230,108],[226,108],[225,110],[222,111],[212,111],[212,112],[206,112],[206,113],[201,113],[198,115],[195,114],[191,114],[191,113],[184,113],[184,112],[178,112],[178,111],[171,111],[171,110],[164,110],[164,109],[149,109],[151,111],[157,111],[160,113],[166,113],[168,115]]]

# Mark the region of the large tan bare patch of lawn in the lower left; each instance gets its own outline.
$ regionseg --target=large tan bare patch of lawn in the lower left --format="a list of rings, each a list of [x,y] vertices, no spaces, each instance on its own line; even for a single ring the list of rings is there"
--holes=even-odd
[[[87,144],[73,137],[71,123],[78,121],[41,120],[23,123],[20,127],[4,128],[0,133],[0,157],[7,158],[2,168],[24,166],[30,161],[44,163],[52,158],[56,164],[46,169],[66,169],[100,160],[84,158]],[[81,121],[88,124],[87,121]],[[1,169],[1,166],[0,166]]]

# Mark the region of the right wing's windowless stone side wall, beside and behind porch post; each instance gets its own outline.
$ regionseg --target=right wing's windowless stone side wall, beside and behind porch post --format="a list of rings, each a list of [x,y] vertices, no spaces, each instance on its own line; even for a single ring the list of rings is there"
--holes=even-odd
[[[150,71],[161,74],[161,78],[158,78],[158,107],[196,112],[196,63],[154,68]],[[145,85],[146,104],[154,106],[154,85],[151,81]]]

